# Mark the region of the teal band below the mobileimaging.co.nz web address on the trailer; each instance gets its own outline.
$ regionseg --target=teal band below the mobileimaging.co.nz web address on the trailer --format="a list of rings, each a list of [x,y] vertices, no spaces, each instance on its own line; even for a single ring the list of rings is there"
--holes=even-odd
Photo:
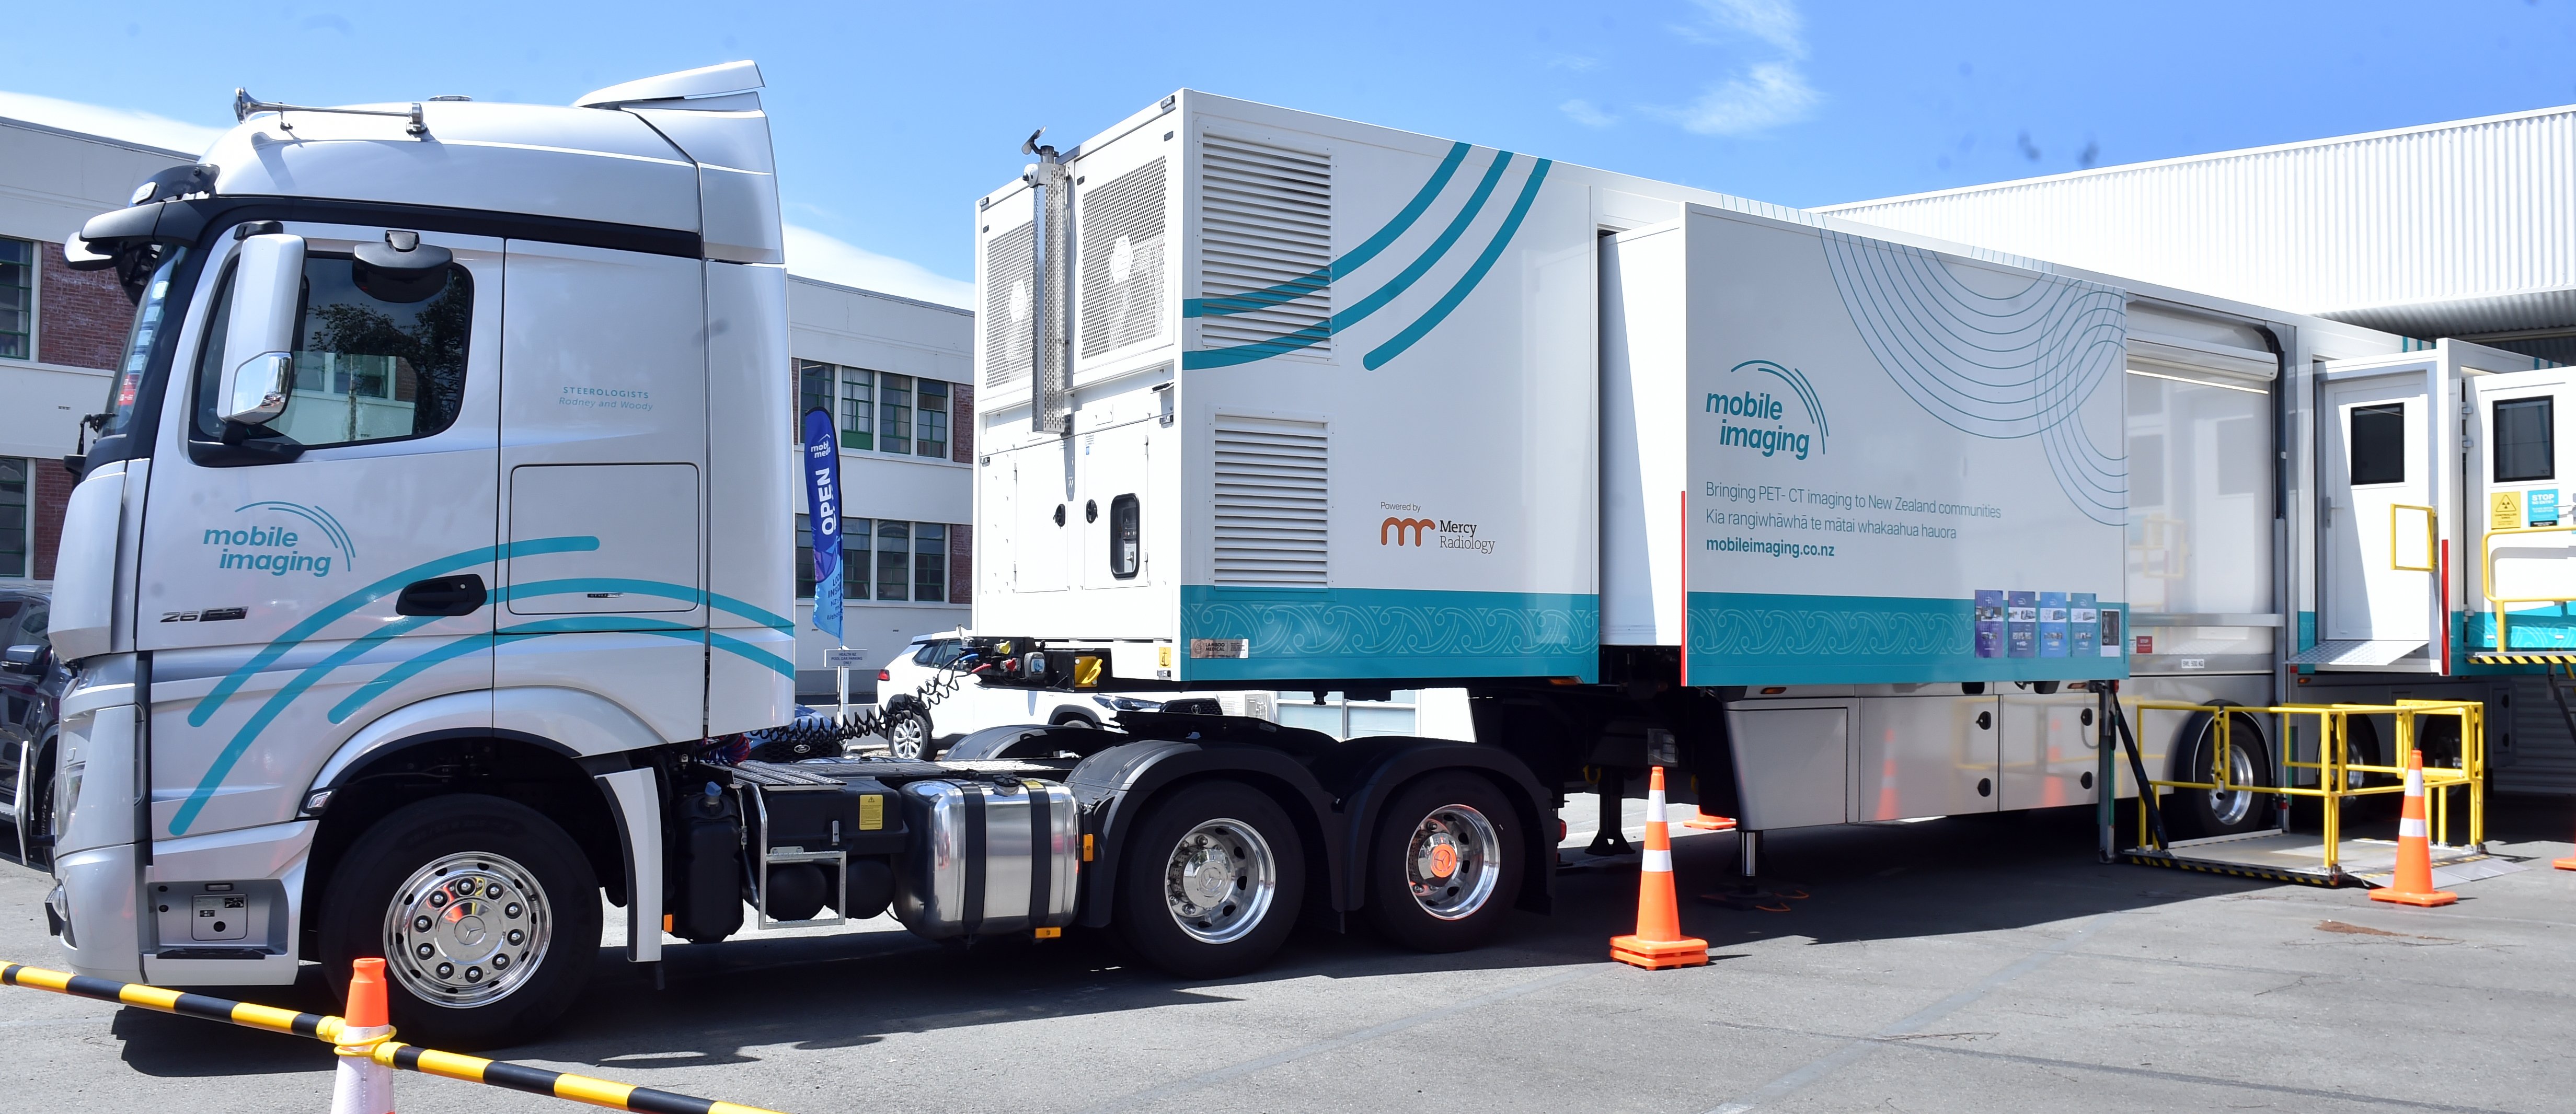
[[[2107,612],[2128,605],[2105,602]],[[1692,592],[1690,684],[2125,679],[2128,656],[1981,659],[1973,599]],[[2128,623],[2120,623],[2128,630]]]

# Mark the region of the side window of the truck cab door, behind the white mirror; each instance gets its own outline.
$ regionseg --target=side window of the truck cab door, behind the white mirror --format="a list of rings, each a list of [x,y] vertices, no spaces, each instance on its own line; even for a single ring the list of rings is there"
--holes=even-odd
[[[196,360],[196,435],[204,440],[224,435],[214,394],[229,316],[227,268]],[[474,278],[461,265],[428,280],[392,283],[348,255],[307,255],[296,386],[286,414],[252,430],[252,437],[332,448],[428,437],[456,425],[471,324]]]

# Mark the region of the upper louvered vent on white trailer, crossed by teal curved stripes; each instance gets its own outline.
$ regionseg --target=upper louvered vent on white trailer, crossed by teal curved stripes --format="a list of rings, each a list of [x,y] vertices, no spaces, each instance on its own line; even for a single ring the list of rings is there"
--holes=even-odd
[[[1270,291],[1332,262],[1332,160],[1257,139],[1198,142],[1198,296]],[[1242,314],[1203,314],[1198,347],[1236,347],[1296,337],[1303,352],[1332,352],[1329,275],[1291,301]]]

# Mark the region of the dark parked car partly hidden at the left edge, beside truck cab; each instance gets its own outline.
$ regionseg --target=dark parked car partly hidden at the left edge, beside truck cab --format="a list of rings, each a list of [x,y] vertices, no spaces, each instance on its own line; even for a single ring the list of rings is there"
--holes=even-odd
[[[28,867],[52,864],[54,726],[72,677],[44,635],[49,610],[44,592],[0,589],[0,821],[13,828],[0,852]]]

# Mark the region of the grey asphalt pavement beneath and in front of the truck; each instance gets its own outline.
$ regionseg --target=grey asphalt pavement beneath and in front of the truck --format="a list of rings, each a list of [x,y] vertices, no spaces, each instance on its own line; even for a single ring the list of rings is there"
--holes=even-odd
[[[680,944],[662,991],[603,949],[551,1039],[495,1055],[783,1111],[2566,1111],[2576,872],[2545,859],[2576,805],[2504,798],[2491,831],[2537,870],[2434,911],[2099,864],[2084,810],[1780,831],[1788,913],[1692,900],[1736,852],[1695,834],[1674,870],[1713,962],[1664,972],[1605,957],[1623,862],[1561,872],[1556,913],[1481,952],[1319,926],[1213,983],[1097,934],[958,949],[891,921]],[[46,885],[0,864],[0,960],[57,962]],[[232,996],[332,1011],[317,978]],[[39,991],[0,988],[0,1109],[330,1099],[319,1042]],[[397,1101],[569,1109],[422,1075]]]

